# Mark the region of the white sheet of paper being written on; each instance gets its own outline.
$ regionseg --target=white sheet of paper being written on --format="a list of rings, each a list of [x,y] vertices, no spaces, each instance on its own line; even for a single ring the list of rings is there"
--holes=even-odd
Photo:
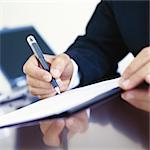
[[[0,116],[0,128],[60,114],[92,98],[118,87],[119,78],[66,91],[29,106]]]

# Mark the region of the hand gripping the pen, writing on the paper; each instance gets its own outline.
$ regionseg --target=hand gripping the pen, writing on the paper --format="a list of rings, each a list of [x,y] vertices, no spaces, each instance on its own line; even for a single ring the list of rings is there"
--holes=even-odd
[[[51,66],[50,73],[41,68],[41,65],[31,56],[23,66],[26,74],[29,91],[39,98],[54,96],[56,91],[50,84],[52,76],[57,79],[61,92],[67,90],[72,74],[73,64],[67,54],[58,56],[44,55],[45,60]]]

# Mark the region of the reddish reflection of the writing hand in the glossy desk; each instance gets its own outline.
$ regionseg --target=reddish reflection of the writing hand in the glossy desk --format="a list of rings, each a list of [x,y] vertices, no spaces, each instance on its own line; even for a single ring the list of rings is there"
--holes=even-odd
[[[80,112],[66,120],[57,119],[40,123],[40,128],[43,133],[43,141],[48,146],[60,146],[60,134],[64,127],[67,127],[68,139],[76,133],[85,132],[88,128],[87,112]]]

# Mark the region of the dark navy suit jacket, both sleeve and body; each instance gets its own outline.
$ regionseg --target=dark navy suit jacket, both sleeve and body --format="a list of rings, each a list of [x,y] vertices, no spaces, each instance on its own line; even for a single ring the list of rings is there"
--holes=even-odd
[[[80,86],[115,75],[118,62],[129,52],[149,46],[149,1],[102,1],[86,34],[66,53],[79,66]],[[142,60],[141,60],[142,61]]]

